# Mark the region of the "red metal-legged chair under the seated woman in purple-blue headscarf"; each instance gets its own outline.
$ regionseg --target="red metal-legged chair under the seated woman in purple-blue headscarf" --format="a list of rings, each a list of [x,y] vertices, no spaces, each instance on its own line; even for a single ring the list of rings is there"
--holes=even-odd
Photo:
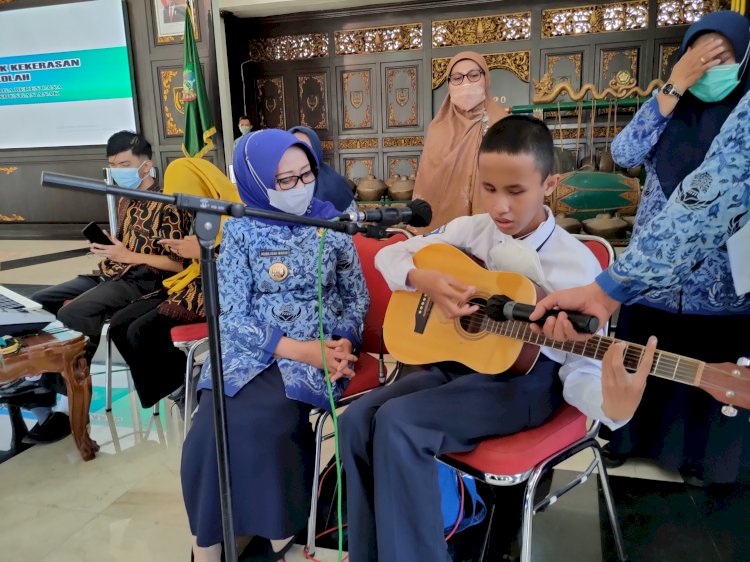
[[[356,376],[352,378],[343,396],[336,403],[337,408],[346,406],[359,396],[396,378],[396,371],[394,371],[390,380],[386,380],[385,366],[382,362],[382,355],[387,353],[385,344],[382,341],[383,320],[385,319],[385,310],[388,307],[388,301],[391,298],[391,290],[388,288],[382,275],[380,275],[380,272],[375,269],[375,254],[386,246],[406,240],[411,235],[403,230],[389,230],[395,232],[395,234],[385,240],[367,238],[360,234],[354,237],[354,245],[357,248],[357,254],[359,254],[359,261],[362,263],[367,291],[370,293],[370,308],[367,311],[367,316],[365,316],[362,346],[360,348],[361,353],[355,367]],[[371,353],[377,354],[379,359],[370,355]],[[319,409],[314,410],[312,413],[319,415],[315,422],[315,472],[312,484],[310,518],[307,523],[306,550],[309,556],[315,554],[315,522],[318,515],[321,448],[323,441],[333,436],[333,433],[323,433],[323,424],[330,414],[326,410]]]

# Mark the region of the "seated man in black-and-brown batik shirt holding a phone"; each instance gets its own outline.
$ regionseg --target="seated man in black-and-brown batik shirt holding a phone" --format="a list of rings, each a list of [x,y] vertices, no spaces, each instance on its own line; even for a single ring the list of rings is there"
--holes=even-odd
[[[151,144],[140,134],[120,131],[107,141],[112,179],[119,187],[161,192],[161,186],[152,176],[151,156]],[[90,243],[91,252],[104,258],[98,272],[79,275],[32,296],[63,324],[89,338],[86,347],[89,363],[99,345],[102,326],[109,317],[144,295],[161,290],[165,277],[182,271],[182,258],[157,241],[185,236],[191,217],[172,205],[121,198],[118,222],[117,236],[107,233],[112,244]],[[65,304],[66,301],[70,302]],[[60,385],[49,385],[51,378],[54,377],[43,377],[41,382],[22,380],[0,395],[36,395],[35,400],[38,400],[38,387],[45,383],[64,392]],[[47,443],[70,433],[66,414],[52,414],[44,407],[34,408],[33,412],[38,423],[24,438],[25,442]]]

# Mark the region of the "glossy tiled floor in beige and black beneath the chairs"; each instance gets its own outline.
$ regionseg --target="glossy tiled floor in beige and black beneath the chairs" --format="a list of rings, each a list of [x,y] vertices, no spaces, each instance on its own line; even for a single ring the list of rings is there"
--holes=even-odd
[[[85,248],[82,240],[30,240],[34,237],[27,232],[25,239],[11,240],[0,231],[0,261],[11,266],[0,263],[0,284],[30,294],[40,285],[89,272],[97,263],[92,256],[63,253]],[[52,254],[67,259],[33,259]],[[0,560],[187,561],[190,533],[180,490],[178,411],[166,400],[158,417],[141,409],[120,368],[113,411],[105,413],[101,366],[94,371],[91,432],[102,447],[96,459],[83,462],[68,437],[0,465]],[[0,449],[9,441],[10,425],[0,410]],[[328,458],[331,450],[326,451]],[[587,465],[585,454],[570,459],[556,471],[555,482]],[[750,560],[750,541],[744,538],[750,493],[745,488],[690,489],[678,474],[645,462],[628,462],[610,474],[631,560]],[[614,560],[598,498],[597,479],[590,479],[536,517],[534,560]],[[477,541],[481,531],[458,538]],[[338,556],[318,549],[316,558],[329,562]],[[286,560],[305,560],[302,547],[295,546]]]

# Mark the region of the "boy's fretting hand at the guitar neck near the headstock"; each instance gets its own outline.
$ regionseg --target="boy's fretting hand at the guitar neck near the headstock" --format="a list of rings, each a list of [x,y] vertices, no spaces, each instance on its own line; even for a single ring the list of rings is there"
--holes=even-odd
[[[602,411],[613,421],[629,420],[641,403],[646,380],[656,352],[656,338],[651,336],[635,373],[625,369],[627,344],[610,346],[602,358]]]

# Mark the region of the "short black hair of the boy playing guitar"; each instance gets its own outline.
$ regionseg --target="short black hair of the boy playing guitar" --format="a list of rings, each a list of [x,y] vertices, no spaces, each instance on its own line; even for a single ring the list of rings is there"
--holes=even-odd
[[[552,173],[555,160],[552,133],[543,121],[530,115],[508,115],[492,125],[482,139],[479,152],[531,154],[543,180]]]

